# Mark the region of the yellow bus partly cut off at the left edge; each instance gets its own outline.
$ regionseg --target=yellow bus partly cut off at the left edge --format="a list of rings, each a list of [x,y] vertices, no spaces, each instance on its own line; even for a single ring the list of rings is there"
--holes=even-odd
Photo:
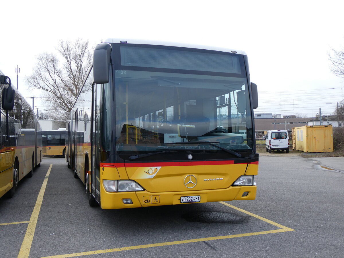
[[[0,78],[0,197],[13,197],[42,162],[42,135],[32,107],[1,71]]]

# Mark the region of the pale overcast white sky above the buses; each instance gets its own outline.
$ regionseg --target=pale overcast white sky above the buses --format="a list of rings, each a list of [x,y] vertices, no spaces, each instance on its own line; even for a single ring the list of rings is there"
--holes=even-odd
[[[109,37],[243,50],[258,85],[255,113],[330,115],[344,99],[330,71],[331,48],[344,46],[342,1],[3,1],[0,69],[25,97],[36,56],[60,40]],[[27,98],[32,104],[32,98]],[[45,107],[35,99],[35,112]]]

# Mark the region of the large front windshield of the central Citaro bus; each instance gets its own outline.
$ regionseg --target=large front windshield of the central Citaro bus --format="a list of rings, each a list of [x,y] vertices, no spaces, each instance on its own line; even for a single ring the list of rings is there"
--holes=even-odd
[[[242,55],[144,47],[121,47],[119,52],[112,70],[118,153],[215,150],[214,144],[252,151]],[[199,144],[209,141],[216,143]]]

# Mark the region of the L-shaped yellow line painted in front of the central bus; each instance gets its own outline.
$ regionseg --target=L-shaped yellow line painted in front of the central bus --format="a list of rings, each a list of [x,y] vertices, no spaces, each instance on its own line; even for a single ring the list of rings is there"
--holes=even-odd
[[[77,252],[74,254],[65,254],[65,255],[54,255],[54,256],[46,256],[42,258],[67,258],[67,257],[78,257],[78,256],[85,256],[85,255],[96,255],[96,254],[105,254],[109,252],[118,252],[118,251],[126,251],[126,250],[134,250],[134,249],[142,249],[142,248],[149,248],[149,247],[158,247],[158,246],[169,246],[169,245],[180,245],[180,244],[187,244],[187,243],[195,243],[195,242],[202,242],[202,241],[211,241],[211,240],[219,240],[219,239],[229,239],[235,237],[245,237],[245,236],[256,236],[256,235],[263,235],[263,234],[271,234],[271,233],[281,233],[281,232],[288,232],[288,231],[295,231],[292,228],[283,226],[276,222],[270,221],[269,219],[263,218],[256,214],[250,213],[245,211],[244,209],[240,209],[233,205],[230,205],[225,202],[219,202],[224,204],[230,208],[236,209],[237,211],[243,212],[248,214],[252,217],[258,218],[261,221],[269,223],[273,226],[279,227],[280,229],[274,230],[267,230],[267,231],[260,231],[260,232],[252,232],[252,233],[245,233],[245,234],[236,234],[236,235],[228,235],[228,236],[217,236],[217,237],[205,237],[205,238],[196,238],[196,239],[187,239],[187,240],[180,240],[180,241],[171,241],[171,242],[164,242],[164,243],[156,243],[156,244],[147,244],[147,245],[138,245],[138,246],[128,246],[128,247],[119,247],[119,248],[111,248],[111,249],[104,249],[104,250],[96,250],[96,251],[86,251],[86,252]]]

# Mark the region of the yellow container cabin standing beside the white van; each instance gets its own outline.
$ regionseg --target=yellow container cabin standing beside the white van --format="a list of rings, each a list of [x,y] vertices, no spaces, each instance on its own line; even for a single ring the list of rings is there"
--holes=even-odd
[[[304,152],[333,152],[332,126],[292,128],[292,148]]]

